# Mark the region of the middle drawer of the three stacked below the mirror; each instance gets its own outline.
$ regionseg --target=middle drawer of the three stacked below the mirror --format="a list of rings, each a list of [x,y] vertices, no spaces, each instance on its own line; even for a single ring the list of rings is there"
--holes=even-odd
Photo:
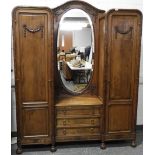
[[[99,126],[100,118],[64,118],[57,119],[57,127]]]

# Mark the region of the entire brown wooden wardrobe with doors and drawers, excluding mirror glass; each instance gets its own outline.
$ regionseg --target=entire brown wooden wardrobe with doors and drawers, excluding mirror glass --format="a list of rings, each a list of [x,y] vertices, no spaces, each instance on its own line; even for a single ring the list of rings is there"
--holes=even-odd
[[[68,91],[57,69],[59,22],[71,9],[93,26],[92,77],[82,92]],[[17,153],[25,145],[130,140],[136,146],[142,14],[99,10],[83,1],[54,9],[16,7],[12,12],[17,112]]]

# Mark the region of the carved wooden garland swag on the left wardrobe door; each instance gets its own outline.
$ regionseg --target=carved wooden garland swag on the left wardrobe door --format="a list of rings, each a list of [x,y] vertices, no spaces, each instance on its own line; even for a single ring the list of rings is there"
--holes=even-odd
[[[30,33],[36,33],[36,32],[41,31],[41,38],[43,38],[43,29],[44,29],[44,27],[42,25],[38,26],[35,29],[29,28],[29,27],[27,27],[27,25],[23,25],[23,28],[24,28],[24,37],[26,37],[26,32],[27,31],[30,32]]]

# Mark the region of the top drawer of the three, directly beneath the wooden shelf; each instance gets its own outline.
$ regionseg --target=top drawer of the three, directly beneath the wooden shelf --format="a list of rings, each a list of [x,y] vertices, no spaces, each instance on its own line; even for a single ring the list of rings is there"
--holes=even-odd
[[[64,107],[57,108],[57,118],[64,116],[83,116],[83,115],[100,115],[99,107]]]

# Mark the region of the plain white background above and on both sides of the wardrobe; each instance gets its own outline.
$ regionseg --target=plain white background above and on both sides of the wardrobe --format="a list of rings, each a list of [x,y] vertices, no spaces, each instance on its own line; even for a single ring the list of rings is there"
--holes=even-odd
[[[144,53],[144,154],[154,154],[155,134],[155,17],[153,1],[142,0],[85,0],[104,10],[112,8],[143,9]],[[1,154],[11,154],[11,11],[17,6],[48,6],[54,8],[66,0],[5,0],[0,5],[0,148]],[[143,8],[142,8],[143,4]],[[150,153],[149,153],[149,152]]]

